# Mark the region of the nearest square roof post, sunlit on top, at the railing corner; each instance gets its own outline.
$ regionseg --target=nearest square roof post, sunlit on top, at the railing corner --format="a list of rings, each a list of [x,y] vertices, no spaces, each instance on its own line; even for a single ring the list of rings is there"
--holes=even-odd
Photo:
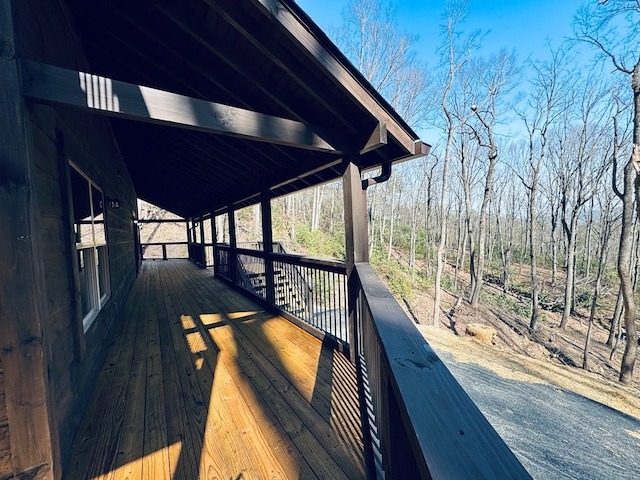
[[[360,168],[357,165],[359,155],[350,156],[342,177],[344,195],[345,247],[347,260],[347,290],[349,296],[349,344],[351,361],[357,357],[357,300],[358,291],[355,281],[355,264],[369,261],[369,239],[367,218],[367,192],[362,189]]]

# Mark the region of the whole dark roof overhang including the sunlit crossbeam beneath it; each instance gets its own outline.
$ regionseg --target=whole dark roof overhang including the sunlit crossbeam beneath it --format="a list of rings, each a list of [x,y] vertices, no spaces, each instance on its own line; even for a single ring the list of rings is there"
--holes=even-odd
[[[89,68],[25,60],[25,95],[109,115],[138,196],[180,216],[428,151],[292,0],[63,3]]]

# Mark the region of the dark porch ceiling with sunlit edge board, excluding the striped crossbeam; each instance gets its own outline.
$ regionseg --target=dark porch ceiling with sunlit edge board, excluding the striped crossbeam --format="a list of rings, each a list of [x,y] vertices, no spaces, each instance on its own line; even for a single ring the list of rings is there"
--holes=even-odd
[[[416,153],[416,134],[293,0],[66,4],[91,73],[295,120],[333,147],[111,118],[138,196],[176,214],[241,207],[267,189],[278,196],[335,179],[342,159],[362,151],[380,123],[387,145],[363,153],[361,167]]]

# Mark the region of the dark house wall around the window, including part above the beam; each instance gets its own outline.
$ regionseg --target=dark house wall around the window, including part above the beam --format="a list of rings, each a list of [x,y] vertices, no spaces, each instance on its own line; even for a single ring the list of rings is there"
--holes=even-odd
[[[21,58],[90,70],[74,41],[64,6],[58,1],[14,2],[14,17]],[[44,252],[48,371],[64,466],[135,279],[132,220],[136,195],[105,117],[43,105],[29,105],[28,112]],[[118,209],[105,208],[111,297],[85,333],[78,328],[71,261],[75,249],[66,213],[68,160],[89,176],[105,197],[120,201]],[[84,355],[79,353],[82,350]]]

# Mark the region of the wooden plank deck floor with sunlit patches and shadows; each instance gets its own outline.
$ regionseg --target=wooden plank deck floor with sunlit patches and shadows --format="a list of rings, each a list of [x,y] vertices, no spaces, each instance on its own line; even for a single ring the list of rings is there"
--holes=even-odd
[[[364,476],[348,359],[210,270],[143,262],[65,479]]]

